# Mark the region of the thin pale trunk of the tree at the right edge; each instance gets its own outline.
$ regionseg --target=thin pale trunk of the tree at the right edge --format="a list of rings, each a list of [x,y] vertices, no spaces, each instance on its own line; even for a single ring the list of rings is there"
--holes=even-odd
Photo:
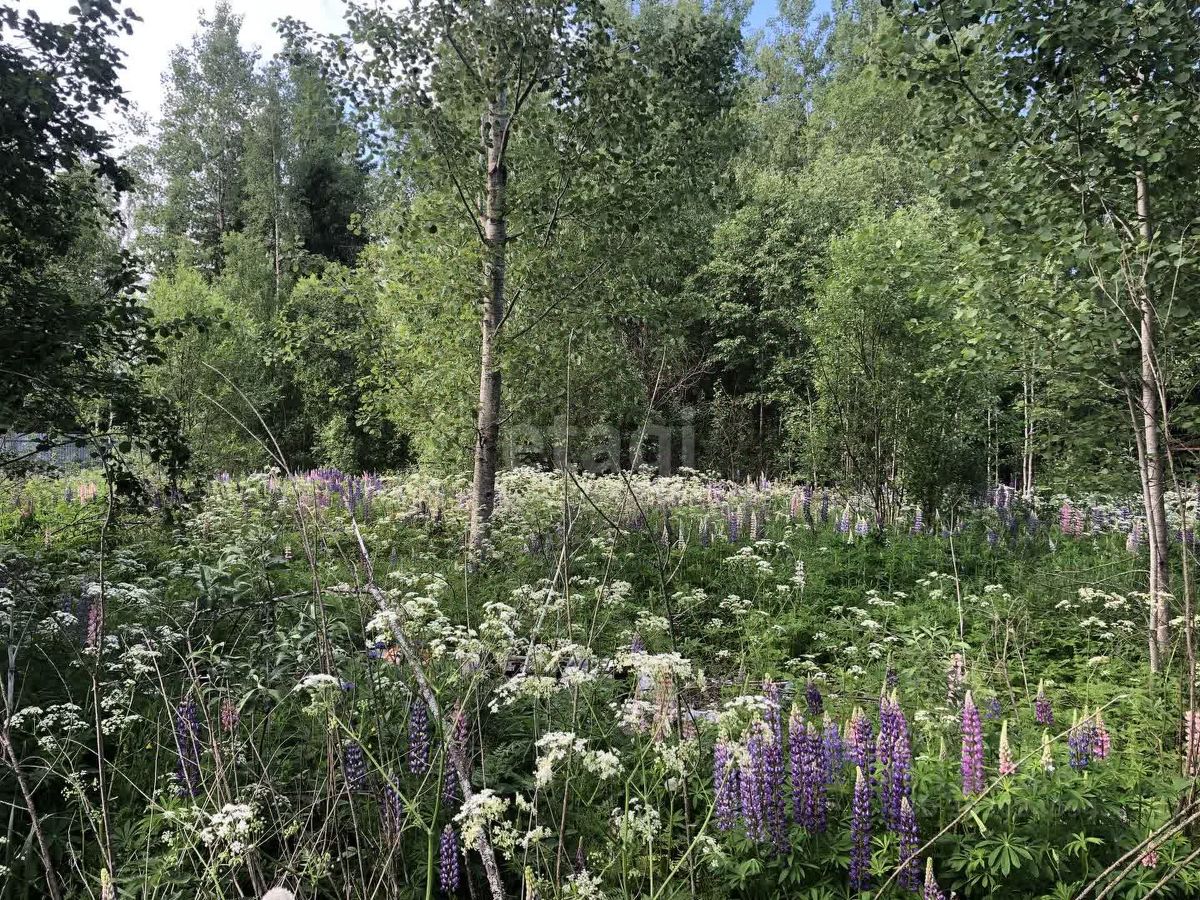
[[[1150,187],[1146,172],[1138,169],[1138,227],[1142,239],[1150,244],[1154,236],[1150,216]],[[1142,282],[1138,296],[1140,313],[1139,346],[1141,350],[1141,444],[1144,502],[1146,506],[1147,544],[1150,545],[1150,623],[1152,668],[1162,665],[1170,643],[1170,568],[1166,530],[1166,480],[1163,469],[1160,430],[1158,421],[1158,367],[1154,358],[1157,317],[1150,286]],[[1156,659],[1157,658],[1157,659]],[[1158,665],[1154,665],[1154,664]]]

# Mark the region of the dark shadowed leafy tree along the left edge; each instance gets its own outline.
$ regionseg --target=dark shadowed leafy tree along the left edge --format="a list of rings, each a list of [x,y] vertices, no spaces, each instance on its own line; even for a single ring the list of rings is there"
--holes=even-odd
[[[186,455],[142,383],[155,334],[115,234],[130,178],[96,125],[126,106],[114,41],[134,20],[104,0],[65,24],[0,6],[0,425],[88,440],[124,485],[134,445]]]

